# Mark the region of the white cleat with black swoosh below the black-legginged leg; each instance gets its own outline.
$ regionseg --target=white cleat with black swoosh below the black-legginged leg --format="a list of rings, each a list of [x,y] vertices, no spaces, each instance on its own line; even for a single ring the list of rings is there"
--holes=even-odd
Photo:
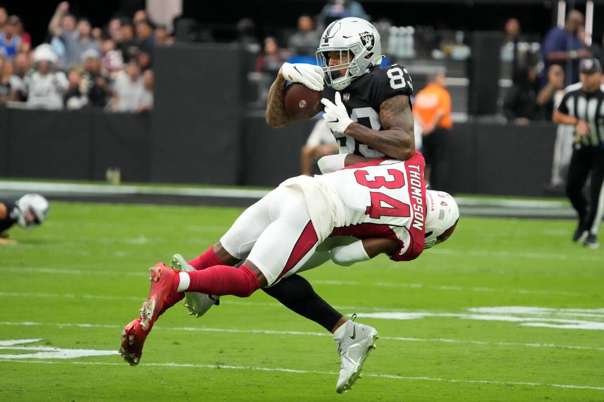
[[[353,320],[355,318],[356,315],[353,315]],[[370,351],[376,348],[376,339],[379,336],[375,328],[354,321],[346,321],[333,334],[341,356],[340,375],[336,383],[338,394],[348,391],[361,378],[363,363]]]

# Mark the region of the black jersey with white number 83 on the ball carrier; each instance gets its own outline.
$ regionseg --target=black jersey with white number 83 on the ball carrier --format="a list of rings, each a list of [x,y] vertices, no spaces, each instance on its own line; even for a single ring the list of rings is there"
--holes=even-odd
[[[334,102],[335,93],[335,89],[325,86],[323,98]],[[413,93],[413,83],[406,68],[393,64],[385,68],[374,68],[352,81],[339,93],[352,121],[380,131],[384,130],[379,121],[379,107],[382,102],[396,95],[410,96]],[[385,156],[382,152],[371,149],[343,133],[333,132],[333,136],[338,141],[341,154],[355,154],[368,158]]]

